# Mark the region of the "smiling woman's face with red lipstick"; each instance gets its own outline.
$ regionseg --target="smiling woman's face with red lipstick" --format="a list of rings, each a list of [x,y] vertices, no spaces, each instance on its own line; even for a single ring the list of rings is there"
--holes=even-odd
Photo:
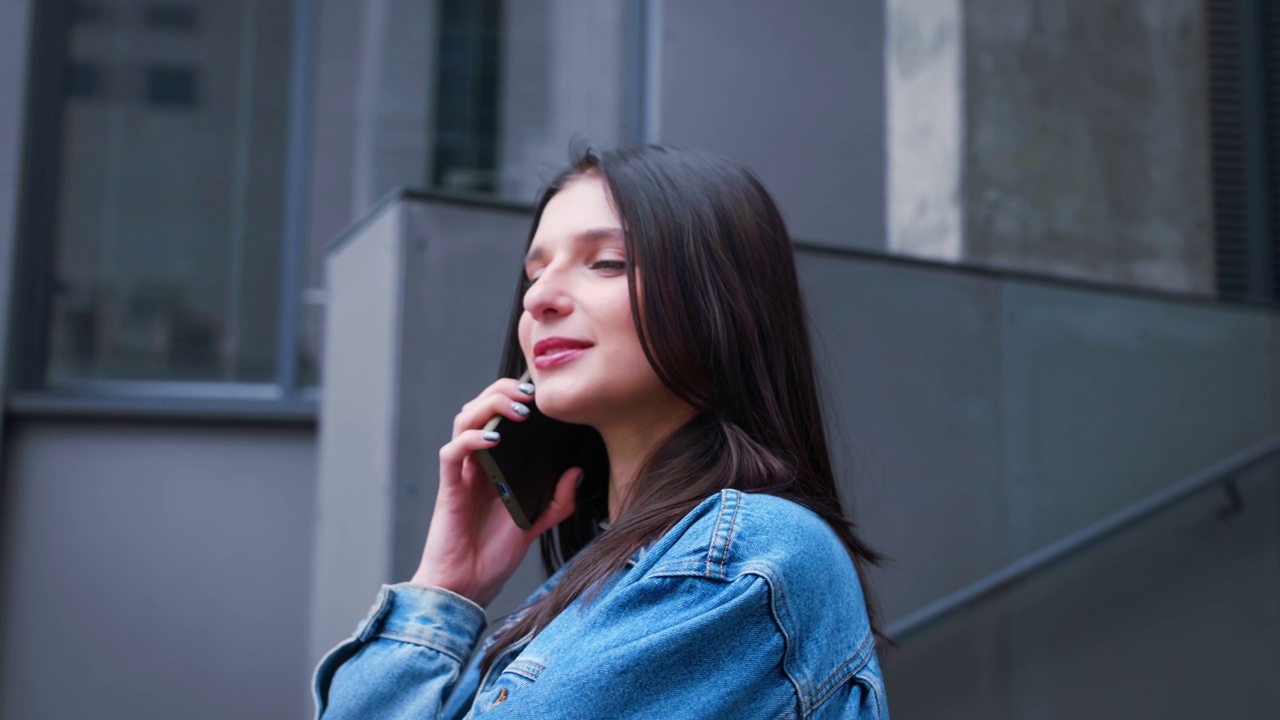
[[[543,209],[525,261],[520,347],[552,418],[644,421],[678,402],[640,347],[631,319],[622,224],[599,176],[571,181]]]

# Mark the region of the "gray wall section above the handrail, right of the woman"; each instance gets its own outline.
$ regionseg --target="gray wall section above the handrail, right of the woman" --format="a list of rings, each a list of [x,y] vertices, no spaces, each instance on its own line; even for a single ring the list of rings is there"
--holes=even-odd
[[[902,568],[884,578],[892,612],[1280,432],[1272,314],[799,263],[847,489]]]

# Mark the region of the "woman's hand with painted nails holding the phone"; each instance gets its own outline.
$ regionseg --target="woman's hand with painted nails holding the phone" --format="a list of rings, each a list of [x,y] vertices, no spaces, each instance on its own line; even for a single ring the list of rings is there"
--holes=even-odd
[[[571,468],[561,477],[538,521],[521,530],[474,455],[502,442],[485,439],[485,423],[494,415],[522,421],[525,416],[512,402],[530,398],[532,395],[521,391],[518,380],[503,378],[463,405],[453,419],[453,439],[440,448],[440,489],[412,583],[453,591],[486,606],[538,536],[573,514],[573,488],[581,469]]]

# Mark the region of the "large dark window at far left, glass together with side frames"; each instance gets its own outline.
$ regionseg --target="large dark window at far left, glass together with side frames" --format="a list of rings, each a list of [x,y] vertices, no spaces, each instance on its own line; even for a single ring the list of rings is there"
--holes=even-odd
[[[97,22],[97,3],[37,6],[14,384],[223,396],[292,382],[279,340],[296,332],[282,297],[302,261],[284,252],[303,182],[289,172],[297,8],[111,9],[131,22]]]

